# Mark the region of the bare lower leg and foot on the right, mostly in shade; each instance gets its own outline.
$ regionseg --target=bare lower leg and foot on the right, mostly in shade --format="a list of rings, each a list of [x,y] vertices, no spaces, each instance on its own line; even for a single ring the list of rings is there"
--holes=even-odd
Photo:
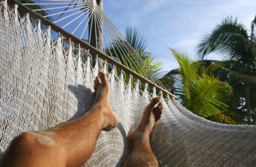
[[[127,138],[132,152],[125,160],[123,166],[159,166],[157,158],[153,153],[149,135],[156,122],[162,114],[162,104],[158,98],[154,98],[146,106],[143,112],[142,121],[138,127]],[[154,108],[154,106],[158,105]]]

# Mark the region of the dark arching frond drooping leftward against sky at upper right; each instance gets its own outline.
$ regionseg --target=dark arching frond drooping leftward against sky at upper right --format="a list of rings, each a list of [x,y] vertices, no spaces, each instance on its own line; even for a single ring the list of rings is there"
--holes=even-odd
[[[201,58],[212,52],[230,58],[235,51],[236,55],[241,55],[245,51],[247,40],[248,34],[245,26],[239,23],[237,18],[233,20],[232,16],[227,17],[222,24],[217,25],[211,33],[204,36],[197,45],[197,53]]]

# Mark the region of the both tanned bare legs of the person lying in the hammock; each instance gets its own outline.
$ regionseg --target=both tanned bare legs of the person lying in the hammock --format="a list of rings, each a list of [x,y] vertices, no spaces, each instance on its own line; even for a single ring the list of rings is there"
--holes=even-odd
[[[106,74],[98,73],[94,90],[94,105],[88,113],[42,132],[20,134],[11,141],[0,166],[82,166],[94,152],[101,130],[115,128],[119,122],[109,103]],[[127,137],[132,151],[124,166],[158,166],[149,134],[161,113],[161,102],[152,99],[144,109],[141,123]]]

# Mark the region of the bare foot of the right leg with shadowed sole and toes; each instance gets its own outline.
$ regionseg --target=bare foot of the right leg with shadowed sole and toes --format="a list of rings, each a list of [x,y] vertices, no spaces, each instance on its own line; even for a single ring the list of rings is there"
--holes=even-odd
[[[127,137],[128,144],[131,149],[136,141],[144,142],[149,140],[149,135],[157,121],[160,119],[162,111],[163,107],[159,98],[153,98],[144,109],[142,120],[138,127]]]

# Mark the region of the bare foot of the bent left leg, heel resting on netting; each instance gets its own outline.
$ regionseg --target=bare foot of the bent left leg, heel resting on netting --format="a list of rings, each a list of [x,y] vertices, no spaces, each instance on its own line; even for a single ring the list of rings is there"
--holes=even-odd
[[[110,84],[105,73],[99,72],[94,80],[95,100],[94,107],[99,108],[100,112],[106,117],[105,129],[110,130],[117,127],[118,116],[115,114],[109,103]]]

